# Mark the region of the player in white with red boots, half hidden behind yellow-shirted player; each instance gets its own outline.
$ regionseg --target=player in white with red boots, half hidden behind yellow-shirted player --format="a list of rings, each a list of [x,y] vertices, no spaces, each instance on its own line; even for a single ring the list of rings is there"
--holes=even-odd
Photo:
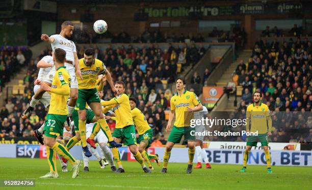
[[[194,114],[194,119],[202,119],[202,118],[206,118],[208,114],[208,110],[205,106],[203,106],[203,109],[199,112],[195,112]],[[205,126],[204,125],[197,125],[195,126],[195,132],[204,132]],[[197,165],[194,167],[195,169],[199,169],[201,168],[201,162],[202,159],[204,160],[206,166],[205,168],[211,168],[211,165],[209,163],[208,157],[207,157],[207,152],[204,149],[203,145],[202,145],[202,141],[204,140],[204,136],[196,136],[196,140],[195,140],[195,153],[197,156]]]

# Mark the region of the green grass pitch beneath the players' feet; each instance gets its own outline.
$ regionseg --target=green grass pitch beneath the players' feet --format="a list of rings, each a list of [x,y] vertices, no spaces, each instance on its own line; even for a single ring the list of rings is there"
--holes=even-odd
[[[273,167],[273,174],[266,173],[266,166],[248,166],[240,173],[240,165],[212,164],[212,169],[193,169],[186,174],[187,164],[169,163],[168,173],[153,164],[152,174],[145,174],[136,162],[122,162],[125,173],[115,174],[110,167],[100,169],[90,161],[89,172],[80,172],[76,179],[71,171],[63,173],[59,161],[58,179],[39,179],[49,166],[45,159],[0,158],[0,179],[35,179],[35,187],[18,189],[311,189],[312,167]],[[82,170],[83,168],[81,168]],[[3,187],[1,187],[3,188]],[[9,187],[12,189],[15,187]]]

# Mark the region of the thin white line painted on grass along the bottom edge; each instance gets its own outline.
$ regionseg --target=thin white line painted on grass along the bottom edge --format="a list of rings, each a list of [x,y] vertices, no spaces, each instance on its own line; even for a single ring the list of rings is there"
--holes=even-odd
[[[120,187],[120,188],[144,188],[144,189],[183,189],[183,190],[196,190],[194,188],[175,188],[175,187],[148,187],[148,186],[126,186],[126,185],[98,185],[98,184],[77,184],[77,183],[41,183],[36,182],[36,184],[42,185],[62,185],[62,186],[88,186],[88,187]]]

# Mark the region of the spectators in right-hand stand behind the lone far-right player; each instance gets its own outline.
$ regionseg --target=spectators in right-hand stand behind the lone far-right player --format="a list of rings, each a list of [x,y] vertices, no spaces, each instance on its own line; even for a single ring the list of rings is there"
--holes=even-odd
[[[271,44],[258,40],[248,63],[241,61],[233,77],[243,86],[237,117],[245,114],[253,92],[259,91],[272,114],[271,142],[311,142],[311,73],[312,46],[307,38]]]

